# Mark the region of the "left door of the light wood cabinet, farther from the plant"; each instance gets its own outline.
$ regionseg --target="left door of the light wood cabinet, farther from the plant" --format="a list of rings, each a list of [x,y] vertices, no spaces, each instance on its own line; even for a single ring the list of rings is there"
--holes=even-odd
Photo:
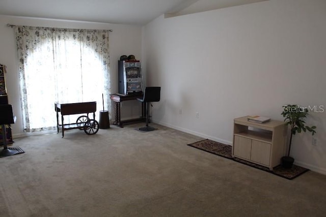
[[[233,155],[235,157],[250,160],[251,156],[251,139],[234,135]]]

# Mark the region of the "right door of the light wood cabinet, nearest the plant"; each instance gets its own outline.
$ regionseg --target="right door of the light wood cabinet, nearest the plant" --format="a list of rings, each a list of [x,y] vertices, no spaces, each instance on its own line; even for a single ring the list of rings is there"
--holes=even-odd
[[[251,145],[251,160],[269,166],[270,144],[253,140]]]

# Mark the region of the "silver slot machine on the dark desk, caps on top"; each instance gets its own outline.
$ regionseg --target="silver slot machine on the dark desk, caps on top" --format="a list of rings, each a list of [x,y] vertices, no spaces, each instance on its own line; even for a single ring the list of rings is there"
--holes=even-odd
[[[143,90],[141,63],[139,60],[118,60],[119,94],[140,94]]]

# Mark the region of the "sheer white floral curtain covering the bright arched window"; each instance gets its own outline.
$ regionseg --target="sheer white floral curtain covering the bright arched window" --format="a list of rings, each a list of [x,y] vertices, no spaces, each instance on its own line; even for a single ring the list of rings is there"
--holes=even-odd
[[[26,132],[57,125],[55,102],[96,101],[99,111],[103,94],[111,111],[108,30],[16,26],[15,33]]]

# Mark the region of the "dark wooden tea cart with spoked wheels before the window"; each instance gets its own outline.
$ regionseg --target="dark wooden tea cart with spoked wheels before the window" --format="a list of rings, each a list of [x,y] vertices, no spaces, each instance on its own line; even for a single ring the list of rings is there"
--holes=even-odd
[[[59,127],[61,127],[62,138],[64,137],[65,130],[84,130],[88,135],[96,134],[98,132],[98,122],[95,120],[96,102],[55,103],[55,110],[57,112],[57,133],[59,133]],[[61,113],[61,125],[59,124],[59,112]],[[90,119],[88,114],[92,112],[93,119]],[[79,116],[75,123],[64,123],[64,116],[72,114],[86,115]]]

